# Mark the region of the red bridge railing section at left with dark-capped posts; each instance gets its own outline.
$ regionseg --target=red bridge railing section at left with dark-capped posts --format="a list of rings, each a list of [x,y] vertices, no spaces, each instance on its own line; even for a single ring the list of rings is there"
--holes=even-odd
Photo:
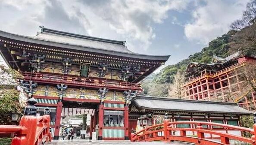
[[[0,125],[0,133],[15,133],[11,145],[43,145],[51,141],[50,109],[45,109],[44,116],[36,117],[37,101],[31,98],[28,103],[19,126]]]

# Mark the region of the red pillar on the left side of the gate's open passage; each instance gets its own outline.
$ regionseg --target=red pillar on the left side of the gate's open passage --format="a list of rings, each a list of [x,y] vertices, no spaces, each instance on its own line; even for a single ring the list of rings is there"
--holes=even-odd
[[[59,139],[61,111],[62,111],[62,102],[58,102],[57,110],[56,110],[56,119],[55,119],[55,126],[54,126],[55,130],[54,130],[53,139]]]

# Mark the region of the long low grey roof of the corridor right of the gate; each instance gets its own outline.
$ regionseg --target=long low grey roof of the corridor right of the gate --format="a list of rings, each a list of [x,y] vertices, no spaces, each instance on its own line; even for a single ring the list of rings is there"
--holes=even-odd
[[[132,103],[138,109],[229,115],[252,115],[252,112],[239,107],[237,103],[171,99],[140,95],[137,96],[136,100],[133,100]]]

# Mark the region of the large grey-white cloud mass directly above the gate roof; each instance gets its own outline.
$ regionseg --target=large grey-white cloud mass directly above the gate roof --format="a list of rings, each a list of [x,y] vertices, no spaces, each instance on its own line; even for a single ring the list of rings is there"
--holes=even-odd
[[[38,25],[73,33],[127,40],[145,50],[169,10],[191,0],[0,0],[0,30],[35,35]],[[132,48],[136,51],[135,48]]]

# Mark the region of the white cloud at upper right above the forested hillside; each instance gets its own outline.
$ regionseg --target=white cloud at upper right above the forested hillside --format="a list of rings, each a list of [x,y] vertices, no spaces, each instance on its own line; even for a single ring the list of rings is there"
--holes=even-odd
[[[185,25],[184,33],[189,40],[207,44],[217,36],[227,33],[230,24],[242,16],[249,0],[205,0],[192,13],[194,21]]]

